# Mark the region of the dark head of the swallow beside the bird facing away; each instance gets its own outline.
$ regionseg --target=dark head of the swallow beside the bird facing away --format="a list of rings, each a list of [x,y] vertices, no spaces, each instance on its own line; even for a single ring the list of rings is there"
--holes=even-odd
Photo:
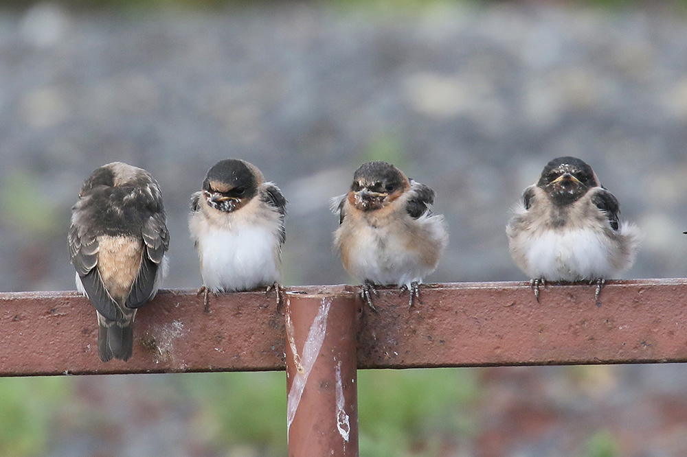
[[[261,183],[262,174],[255,165],[240,159],[225,159],[207,170],[203,196],[214,209],[231,213],[256,196]]]

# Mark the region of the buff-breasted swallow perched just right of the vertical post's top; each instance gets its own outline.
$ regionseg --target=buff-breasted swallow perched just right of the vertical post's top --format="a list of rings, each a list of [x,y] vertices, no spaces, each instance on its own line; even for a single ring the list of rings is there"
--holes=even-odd
[[[331,200],[339,213],[334,246],[343,268],[361,279],[361,298],[372,309],[375,284],[409,290],[420,300],[420,283],[436,269],[449,235],[442,215],[430,210],[434,191],[390,163],[363,163],[348,194]]]

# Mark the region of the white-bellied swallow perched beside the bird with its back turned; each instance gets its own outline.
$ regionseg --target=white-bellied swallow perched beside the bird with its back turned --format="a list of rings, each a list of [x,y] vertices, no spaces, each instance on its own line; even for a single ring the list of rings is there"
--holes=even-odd
[[[191,198],[188,222],[200,259],[206,312],[208,291],[274,287],[280,303],[285,216],[282,191],[252,163],[226,159],[207,171],[202,190]]]

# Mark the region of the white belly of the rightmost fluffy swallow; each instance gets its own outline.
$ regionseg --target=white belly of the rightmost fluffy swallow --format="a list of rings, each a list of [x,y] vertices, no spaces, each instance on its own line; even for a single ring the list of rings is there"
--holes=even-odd
[[[550,281],[610,277],[612,246],[594,229],[547,230],[524,242],[528,274]]]

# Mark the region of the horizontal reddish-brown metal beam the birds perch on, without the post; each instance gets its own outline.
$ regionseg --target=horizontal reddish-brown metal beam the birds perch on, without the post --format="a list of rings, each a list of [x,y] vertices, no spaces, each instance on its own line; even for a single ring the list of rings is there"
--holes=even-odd
[[[352,286],[287,288],[345,295]],[[553,285],[423,285],[422,303],[379,288],[359,313],[359,368],[687,361],[687,279]],[[286,296],[286,294],[284,294]],[[332,323],[335,325],[335,323]],[[0,293],[0,375],[284,370],[284,305],[274,292],[164,290],[137,314],[133,357],[98,359],[95,311],[76,292]]]

